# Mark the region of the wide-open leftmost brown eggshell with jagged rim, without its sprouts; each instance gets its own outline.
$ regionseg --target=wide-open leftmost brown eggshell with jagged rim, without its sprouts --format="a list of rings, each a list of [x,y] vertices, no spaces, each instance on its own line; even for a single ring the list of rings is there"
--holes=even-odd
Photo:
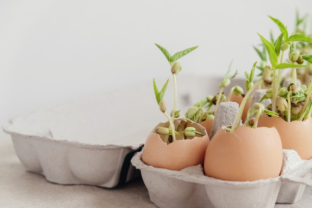
[[[180,171],[181,169],[199,164],[203,165],[209,143],[208,134],[205,128],[198,123],[188,120],[187,126],[195,127],[204,136],[176,140],[166,144],[160,139],[158,134],[150,133],[143,148],[142,161],[146,165],[173,171]]]

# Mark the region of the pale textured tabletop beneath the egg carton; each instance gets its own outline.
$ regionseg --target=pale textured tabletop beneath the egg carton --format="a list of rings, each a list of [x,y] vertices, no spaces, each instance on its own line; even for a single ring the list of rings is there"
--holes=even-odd
[[[49,183],[27,172],[19,162],[10,138],[0,139],[0,208],[156,208],[141,179],[106,189]],[[312,189],[293,205],[275,208],[312,208]]]

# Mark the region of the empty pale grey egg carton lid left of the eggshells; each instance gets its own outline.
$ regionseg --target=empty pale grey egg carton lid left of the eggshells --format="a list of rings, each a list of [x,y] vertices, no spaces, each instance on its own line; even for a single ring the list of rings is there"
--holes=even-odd
[[[185,112],[208,93],[216,93],[221,79],[207,82],[206,76],[179,75],[178,107]],[[166,80],[156,78],[156,83],[162,86]],[[173,106],[170,85],[172,80],[164,96],[168,108]],[[112,188],[140,176],[130,160],[162,120],[151,80],[38,109],[10,119],[2,129],[28,171],[57,184]]]

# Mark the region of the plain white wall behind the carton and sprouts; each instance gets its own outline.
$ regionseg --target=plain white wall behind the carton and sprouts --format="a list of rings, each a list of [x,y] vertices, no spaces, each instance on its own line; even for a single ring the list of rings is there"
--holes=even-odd
[[[294,30],[311,0],[1,0],[0,126],[38,108],[170,76],[154,43],[181,59],[181,73],[240,75],[259,60],[257,32],[280,19]],[[2,132],[1,137],[6,137]]]

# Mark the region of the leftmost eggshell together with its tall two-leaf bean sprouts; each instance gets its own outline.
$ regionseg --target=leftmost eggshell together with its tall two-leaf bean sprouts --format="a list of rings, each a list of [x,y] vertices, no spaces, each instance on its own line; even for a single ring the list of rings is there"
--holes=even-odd
[[[203,165],[204,155],[209,143],[209,137],[204,127],[186,118],[178,118],[180,110],[176,109],[176,75],[181,71],[179,58],[197,48],[191,47],[171,54],[162,46],[156,44],[171,66],[174,85],[173,110],[170,116],[166,113],[166,103],[163,96],[169,79],[160,91],[154,79],[154,91],[159,110],[167,118],[167,122],[159,123],[148,135],[142,153],[142,161],[156,168],[179,171],[186,167]]]

